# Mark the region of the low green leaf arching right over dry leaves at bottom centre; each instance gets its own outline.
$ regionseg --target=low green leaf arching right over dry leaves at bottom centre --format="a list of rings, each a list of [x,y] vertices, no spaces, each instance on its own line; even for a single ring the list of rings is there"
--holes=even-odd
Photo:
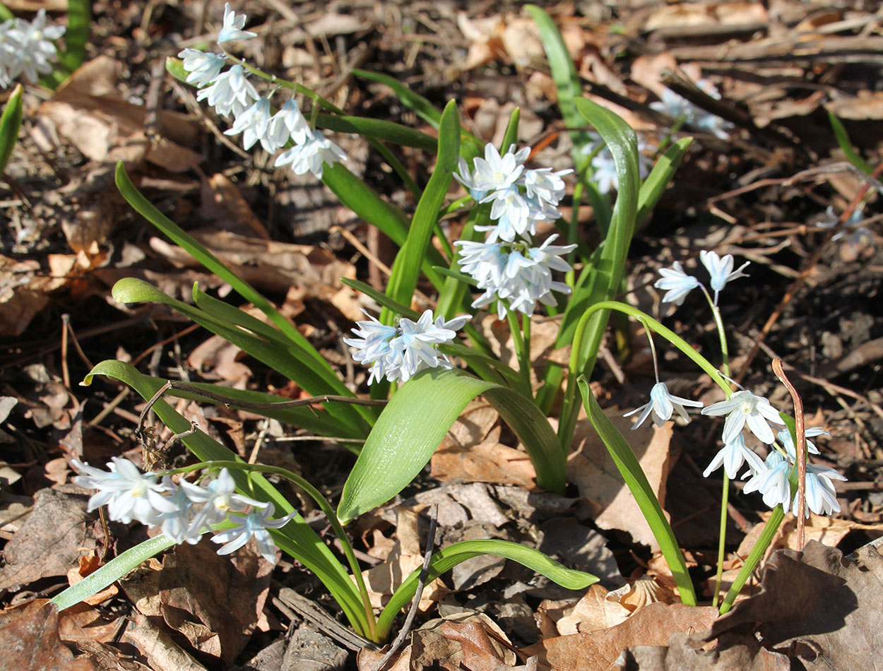
[[[482,554],[494,554],[510,559],[513,562],[518,562],[522,566],[536,571],[541,576],[547,577],[568,590],[585,589],[585,587],[597,583],[600,579],[592,576],[591,573],[568,569],[566,566],[555,562],[554,559],[551,559],[539,550],[534,550],[532,547],[512,543],[509,540],[487,539],[463,540],[459,543],[453,543],[448,547],[435,550],[432,559],[429,560],[426,584],[429,584],[437,577],[442,577],[442,575],[453,569],[457,564],[472,559],[472,557],[479,557]],[[417,592],[419,575],[420,569],[415,569],[404,580],[404,583],[398,586],[396,592],[393,592],[392,598],[389,599],[389,603],[383,608],[381,616],[377,619],[377,635],[379,638],[387,637],[389,629],[396,619],[396,615],[414,598],[414,594]]]

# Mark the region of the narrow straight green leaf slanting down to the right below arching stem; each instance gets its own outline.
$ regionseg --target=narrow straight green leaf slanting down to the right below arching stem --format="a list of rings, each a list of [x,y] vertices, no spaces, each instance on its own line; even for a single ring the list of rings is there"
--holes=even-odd
[[[693,583],[690,574],[687,572],[687,565],[683,561],[683,554],[675,540],[675,532],[671,530],[671,524],[668,524],[665,513],[662,512],[659,500],[656,494],[653,494],[653,488],[647,481],[644,470],[638,462],[634,452],[631,451],[629,443],[623,438],[623,434],[619,433],[613,422],[611,422],[604,411],[601,410],[598,401],[589,388],[589,383],[585,380],[585,375],[580,375],[577,381],[579,391],[583,395],[583,405],[588,413],[589,420],[592,422],[595,431],[600,435],[601,441],[608,449],[610,457],[614,460],[616,468],[620,475],[623,476],[626,486],[629,487],[631,495],[635,497],[638,508],[644,514],[647,524],[653,531],[653,537],[659,543],[662,555],[668,562],[668,569],[671,570],[672,576],[675,577],[675,584],[681,593],[681,600],[688,606],[696,606],[696,592],[693,590]]]

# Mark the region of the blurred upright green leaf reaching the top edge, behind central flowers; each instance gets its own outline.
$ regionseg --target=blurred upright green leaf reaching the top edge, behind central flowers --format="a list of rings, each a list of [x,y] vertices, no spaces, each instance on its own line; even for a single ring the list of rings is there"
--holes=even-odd
[[[543,42],[543,49],[546,50],[549,69],[552,71],[552,79],[555,80],[555,87],[558,90],[558,107],[561,109],[564,124],[571,129],[584,126],[585,120],[577,110],[576,104],[577,99],[583,94],[583,86],[558,26],[555,26],[555,21],[537,5],[528,4],[525,5],[525,9],[530,12],[532,19],[540,28],[540,40]],[[583,147],[591,141],[591,138],[585,131],[577,130],[571,130],[570,137],[573,139],[573,163],[579,172],[586,164],[586,156],[582,153]]]

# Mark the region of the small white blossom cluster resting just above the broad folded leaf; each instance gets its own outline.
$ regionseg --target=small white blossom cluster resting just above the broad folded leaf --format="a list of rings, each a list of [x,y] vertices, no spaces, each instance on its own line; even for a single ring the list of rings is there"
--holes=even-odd
[[[367,314],[367,313],[366,313]],[[371,366],[368,384],[381,381],[406,382],[424,368],[452,368],[450,359],[438,350],[449,343],[464,327],[469,315],[445,321],[433,320],[433,311],[426,310],[419,320],[402,317],[396,326],[386,326],[367,315],[368,321],[357,321],[352,332],[356,338],[343,338],[355,351],[352,358],[364,366]]]

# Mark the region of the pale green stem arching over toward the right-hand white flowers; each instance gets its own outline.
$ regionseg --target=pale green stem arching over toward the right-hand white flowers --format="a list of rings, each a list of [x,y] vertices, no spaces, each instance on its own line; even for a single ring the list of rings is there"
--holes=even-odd
[[[653,317],[651,317],[649,314],[643,313],[638,310],[638,308],[620,303],[619,301],[602,300],[586,310],[585,313],[583,313],[583,316],[580,317],[579,321],[577,322],[577,328],[574,331],[573,335],[573,343],[582,342],[583,332],[585,331],[586,325],[592,318],[592,315],[594,313],[600,312],[601,310],[615,310],[620,313],[628,314],[630,317],[634,317],[637,320],[643,321],[645,327],[651,328],[653,332],[661,335],[663,338],[668,340],[669,343],[675,345],[678,350],[687,355],[687,357],[691,358],[691,360],[697,366],[699,366],[703,371],[708,374],[708,376],[716,385],[718,385],[718,387],[723,389],[723,392],[727,396],[727,398],[729,398],[729,396],[733,393],[732,389],[729,387],[729,382],[726,381],[721,373],[718,372],[717,368],[715,368],[707,358],[699,354],[698,351],[696,351],[690,343],[687,343],[687,341],[685,341],[680,335],[677,335],[670,328],[666,328],[665,326],[660,324],[659,321],[654,320]],[[580,351],[577,346],[574,346],[570,351],[570,366],[567,376],[567,388],[564,391],[561,425],[559,429],[562,449],[565,452],[569,451],[570,449],[570,441],[573,439],[574,428],[577,424],[578,408],[576,407],[575,403],[577,395],[577,377],[585,369],[586,360],[588,357],[588,353]]]

